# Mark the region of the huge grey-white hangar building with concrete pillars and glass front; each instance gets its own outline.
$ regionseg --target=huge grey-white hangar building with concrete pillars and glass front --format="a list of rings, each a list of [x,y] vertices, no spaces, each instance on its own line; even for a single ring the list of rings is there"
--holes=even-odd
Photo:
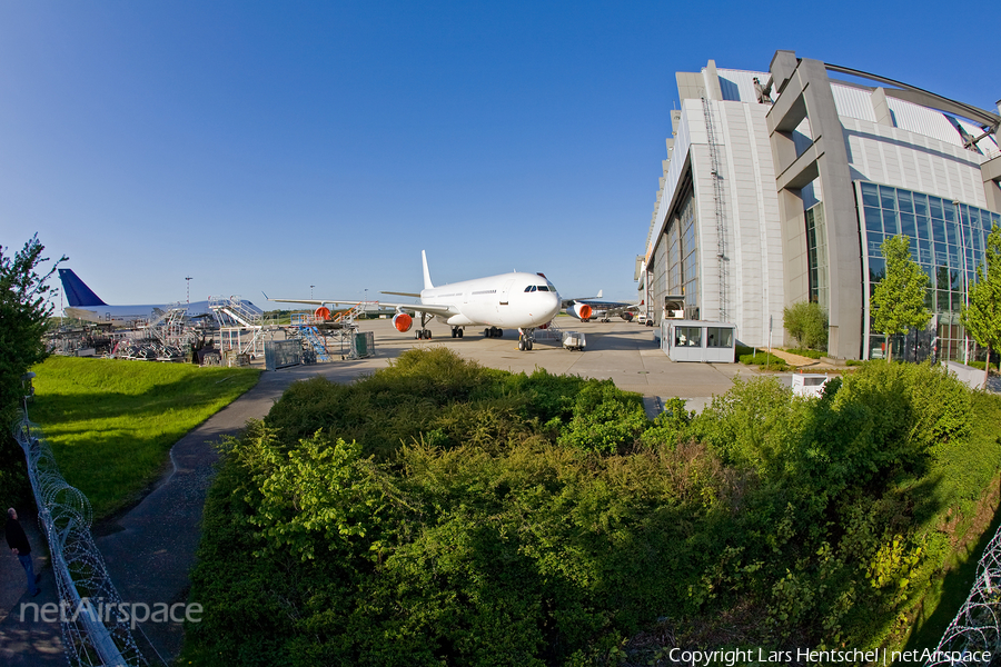
[[[931,279],[926,332],[899,354],[962,359],[959,326],[984,240],[1001,225],[1001,102],[984,111],[885,77],[776,51],[770,71],[677,72],[681,109],[637,257],[640,298],[665,317],[732,322],[784,345],[783,308],[817,301],[829,354],[869,359],[869,299],[886,236]],[[900,350],[898,351],[898,348]]]

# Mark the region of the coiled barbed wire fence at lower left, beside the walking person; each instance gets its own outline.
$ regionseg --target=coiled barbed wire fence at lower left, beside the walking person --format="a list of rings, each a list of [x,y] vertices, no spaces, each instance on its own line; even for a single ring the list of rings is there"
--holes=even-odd
[[[148,665],[129,628],[135,625],[129,607],[90,532],[90,501],[62,478],[52,449],[27,411],[13,435],[24,450],[38,520],[49,542],[67,660],[81,667]]]

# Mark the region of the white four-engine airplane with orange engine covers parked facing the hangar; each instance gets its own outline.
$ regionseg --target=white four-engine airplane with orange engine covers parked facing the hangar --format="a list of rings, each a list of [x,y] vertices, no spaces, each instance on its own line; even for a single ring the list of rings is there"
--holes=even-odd
[[[433,318],[439,318],[452,326],[453,338],[462,338],[466,327],[486,327],[483,335],[487,338],[503,336],[503,327],[518,329],[518,349],[531,350],[535,329],[547,323],[559,312],[559,295],[542,273],[502,273],[435,287],[427,269],[427,253],[424,250],[420,251],[420,258],[424,261],[424,289],[420,293],[383,292],[416,297],[420,302],[379,302],[379,306],[396,309],[393,326],[400,332],[409,331],[414,316],[419,316],[420,328],[415,334],[417,339],[430,338],[432,332],[426,328],[427,322]],[[313,306],[361,302],[340,299],[269,300]]]

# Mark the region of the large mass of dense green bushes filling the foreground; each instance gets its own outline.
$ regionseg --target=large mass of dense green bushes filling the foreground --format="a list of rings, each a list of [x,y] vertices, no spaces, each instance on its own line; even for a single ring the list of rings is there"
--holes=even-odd
[[[653,421],[609,381],[444,349],[301,382],[225,446],[181,661],[608,664],[658,628],[894,641],[949,552],[942,512],[997,472],[997,437],[958,472],[972,411],[929,366],[868,365],[819,399],[737,382]]]

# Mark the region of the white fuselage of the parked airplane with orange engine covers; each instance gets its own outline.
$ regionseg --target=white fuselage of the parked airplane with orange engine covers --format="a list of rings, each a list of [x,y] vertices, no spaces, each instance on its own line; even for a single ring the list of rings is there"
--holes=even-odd
[[[453,327],[519,329],[545,325],[559,312],[561,303],[556,288],[535,273],[504,273],[424,289],[420,302],[457,310],[455,315],[442,317]]]

